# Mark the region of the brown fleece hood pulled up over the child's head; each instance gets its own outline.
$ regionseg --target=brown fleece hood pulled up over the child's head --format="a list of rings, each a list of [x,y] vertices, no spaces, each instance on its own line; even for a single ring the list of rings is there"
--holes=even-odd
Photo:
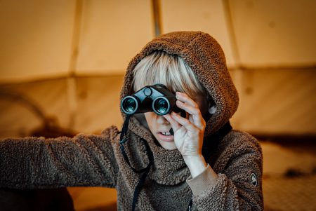
[[[205,136],[223,127],[237,110],[239,98],[226,67],[222,48],[213,37],[204,32],[171,32],[147,43],[127,67],[121,99],[133,94],[131,83],[136,64],[155,50],[182,57],[216,103],[216,113],[206,122]],[[125,114],[121,114],[125,118]],[[138,133],[141,131],[136,129],[137,125],[139,121],[131,118],[129,128]]]

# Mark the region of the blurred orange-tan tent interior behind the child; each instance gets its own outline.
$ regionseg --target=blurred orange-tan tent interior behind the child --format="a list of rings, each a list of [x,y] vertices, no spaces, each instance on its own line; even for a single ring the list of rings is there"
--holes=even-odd
[[[265,210],[316,210],[316,1],[0,0],[0,137],[121,127],[131,58],[159,34],[211,34],[240,104],[231,123],[263,147]],[[76,210],[116,191],[69,188]]]

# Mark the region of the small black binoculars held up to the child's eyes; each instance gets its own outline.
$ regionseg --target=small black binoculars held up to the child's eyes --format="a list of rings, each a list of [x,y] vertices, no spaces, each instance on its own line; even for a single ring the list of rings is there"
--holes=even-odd
[[[133,95],[124,97],[121,100],[121,110],[129,115],[150,111],[157,115],[170,114],[171,111],[185,115],[185,111],[176,106],[176,95],[162,84],[145,86]]]

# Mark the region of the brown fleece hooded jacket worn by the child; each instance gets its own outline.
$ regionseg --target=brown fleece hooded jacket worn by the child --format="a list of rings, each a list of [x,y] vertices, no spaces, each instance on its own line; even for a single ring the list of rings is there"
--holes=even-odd
[[[237,91],[218,43],[203,32],[159,36],[131,60],[121,98],[133,92],[133,68],[154,50],[183,57],[213,97],[217,111],[207,121],[204,136],[204,144],[211,146],[204,151],[209,165],[195,178],[190,177],[178,150],[155,144],[143,114],[131,118],[124,144],[131,165],[144,168],[149,162],[142,140],[154,156],[136,210],[186,210],[191,199],[192,210],[263,210],[262,152],[257,140],[237,130],[230,130],[218,142],[213,138],[238,105]],[[119,130],[114,126],[102,135],[6,139],[0,142],[0,169],[0,187],[6,188],[113,187],[118,192],[118,210],[131,210],[133,191],[140,179],[124,161]]]

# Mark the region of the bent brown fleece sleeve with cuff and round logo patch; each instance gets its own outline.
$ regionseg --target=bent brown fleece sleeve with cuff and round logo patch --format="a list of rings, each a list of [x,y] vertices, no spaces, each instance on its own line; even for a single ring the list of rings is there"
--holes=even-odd
[[[208,165],[201,175],[187,179],[197,210],[263,210],[261,147],[250,135],[242,136],[225,149],[223,172],[216,174]]]

